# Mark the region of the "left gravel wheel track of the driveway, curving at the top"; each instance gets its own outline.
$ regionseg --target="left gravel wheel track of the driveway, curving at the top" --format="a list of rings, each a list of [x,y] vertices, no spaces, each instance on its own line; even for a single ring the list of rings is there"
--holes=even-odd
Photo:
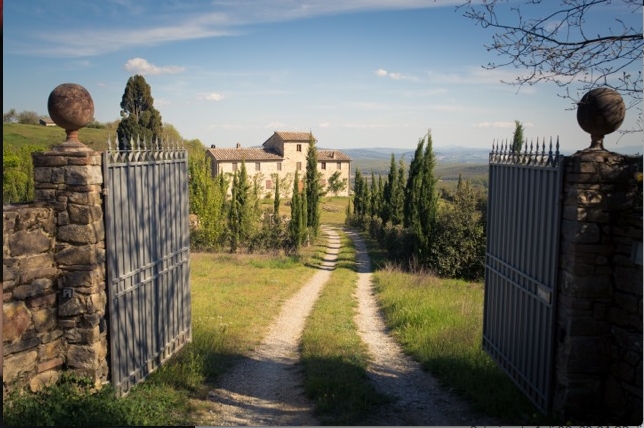
[[[306,317],[335,267],[340,238],[328,236],[321,269],[282,307],[253,354],[236,365],[210,393],[213,426],[320,425],[306,398],[298,346]]]

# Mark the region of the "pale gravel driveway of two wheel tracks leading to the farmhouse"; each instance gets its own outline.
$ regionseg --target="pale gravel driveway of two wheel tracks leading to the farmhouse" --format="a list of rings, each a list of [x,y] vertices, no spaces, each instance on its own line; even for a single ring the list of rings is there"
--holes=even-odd
[[[260,346],[218,382],[211,391],[211,425],[319,425],[306,398],[299,363],[299,339],[306,317],[330,277],[340,248],[338,233],[323,227],[328,237],[321,269],[280,312]],[[393,402],[372,413],[364,425],[499,425],[470,411],[466,402],[440,387],[436,379],[403,354],[387,334],[371,285],[371,267],[363,240],[353,239],[359,266],[355,321],[368,345],[372,362],[368,375]],[[210,421],[209,421],[210,422]]]

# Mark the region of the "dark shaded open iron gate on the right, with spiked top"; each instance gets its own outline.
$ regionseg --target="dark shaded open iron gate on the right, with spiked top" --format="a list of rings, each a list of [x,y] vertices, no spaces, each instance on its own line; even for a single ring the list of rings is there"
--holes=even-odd
[[[563,155],[490,153],[483,349],[542,411],[552,402]]]

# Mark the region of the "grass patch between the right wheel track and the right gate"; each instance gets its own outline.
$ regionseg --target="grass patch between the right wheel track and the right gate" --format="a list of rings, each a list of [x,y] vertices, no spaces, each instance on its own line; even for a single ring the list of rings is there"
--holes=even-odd
[[[482,283],[396,268],[375,272],[374,283],[387,326],[405,352],[474,409],[510,425],[553,424],[482,350]]]

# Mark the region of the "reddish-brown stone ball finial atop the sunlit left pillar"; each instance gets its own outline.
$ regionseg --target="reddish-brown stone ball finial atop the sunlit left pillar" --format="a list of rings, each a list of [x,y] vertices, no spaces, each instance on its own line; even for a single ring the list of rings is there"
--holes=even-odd
[[[76,83],[58,85],[47,100],[49,117],[65,130],[67,140],[54,150],[91,150],[78,139],[78,130],[94,117],[94,101],[87,89]]]

